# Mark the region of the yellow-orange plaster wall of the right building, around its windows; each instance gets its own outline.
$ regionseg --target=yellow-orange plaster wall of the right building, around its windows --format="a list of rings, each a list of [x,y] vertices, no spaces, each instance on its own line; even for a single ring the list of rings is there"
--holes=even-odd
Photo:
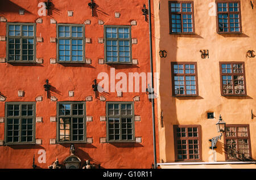
[[[170,35],[168,1],[154,0],[159,162],[175,161],[173,125],[201,125],[202,160],[213,161],[209,139],[220,135],[215,125],[220,114],[226,124],[250,126],[251,154],[256,158],[256,57],[246,57],[248,50],[256,52],[256,1],[252,1],[254,9],[249,0],[240,1],[240,34],[217,33],[216,16],[210,14],[214,2],[193,1],[195,35]],[[201,58],[203,49],[209,50],[209,58]],[[167,57],[160,58],[159,50],[166,50]],[[219,62],[222,61],[245,62],[247,96],[221,96]],[[172,96],[171,62],[197,62],[199,96]],[[207,119],[207,112],[214,112],[215,118]],[[225,161],[223,136],[215,150],[216,160]]]

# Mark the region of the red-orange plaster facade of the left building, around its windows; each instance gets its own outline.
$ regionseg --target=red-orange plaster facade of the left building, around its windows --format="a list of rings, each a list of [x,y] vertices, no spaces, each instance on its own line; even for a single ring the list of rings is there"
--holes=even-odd
[[[151,168],[154,163],[152,110],[147,93],[123,92],[122,96],[118,97],[117,91],[97,92],[95,97],[92,88],[94,79],[97,79],[101,72],[109,75],[110,83],[110,68],[112,72],[115,71],[115,75],[123,72],[127,77],[129,72],[146,74],[150,72],[148,22],[142,15],[143,5],[147,5],[147,2],[144,0],[98,0],[95,1],[93,16],[88,6],[90,1],[54,0],[51,1],[53,5],[48,15],[47,10],[46,14],[43,14],[44,11],[41,9],[43,6],[39,4],[40,2],[43,1],[0,2],[0,92],[3,97],[0,102],[0,117],[2,117],[0,168],[31,168],[34,155],[35,164],[39,168],[48,168],[56,158],[60,164],[63,164],[64,159],[70,155],[71,144],[75,146],[75,155],[82,161],[80,168],[86,160],[102,168]],[[20,12],[22,9],[24,14]],[[68,11],[73,11],[73,14],[69,16]],[[119,12],[119,16],[115,16],[115,12]],[[8,33],[12,28],[11,23],[35,24],[35,58],[37,59],[34,59],[35,63],[9,62],[7,48],[10,48]],[[7,28],[8,24],[9,28]],[[57,25],[60,24],[84,25],[84,57],[82,59],[84,63],[58,62],[60,57],[57,54],[60,52],[57,44],[60,40],[57,42],[56,38]],[[133,41],[130,45],[130,61],[134,63],[102,63],[102,59],[104,62],[105,58],[104,41],[106,41],[104,27],[107,25],[130,27],[130,36]],[[10,55],[10,52],[8,53]],[[51,85],[48,97],[44,89],[47,79]],[[100,81],[97,79],[97,83]],[[116,79],[115,83],[117,82]],[[141,87],[142,84],[140,84]],[[18,91],[23,91],[23,95],[18,96]],[[69,96],[69,91],[73,91],[73,96]],[[86,115],[83,118],[87,121],[84,124],[87,143],[58,143],[58,140],[56,141],[59,133],[57,103],[76,101],[85,102]],[[133,142],[105,142],[108,133],[106,104],[112,101],[131,102],[134,105]],[[9,102],[35,102],[34,143],[8,144],[6,142],[6,123],[9,120],[5,111]],[[43,155],[45,155],[45,161],[43,161]]]

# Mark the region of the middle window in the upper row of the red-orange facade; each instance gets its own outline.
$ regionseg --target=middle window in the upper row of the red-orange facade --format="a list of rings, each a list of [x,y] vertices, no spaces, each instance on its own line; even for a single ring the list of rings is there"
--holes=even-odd
[[[57,59],[59,63],[84,63],[84,25],[57,24]]]

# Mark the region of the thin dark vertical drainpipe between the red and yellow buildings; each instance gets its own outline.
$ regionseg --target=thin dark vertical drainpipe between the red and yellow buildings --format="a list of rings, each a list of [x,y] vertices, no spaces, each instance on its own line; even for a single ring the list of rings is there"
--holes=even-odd
[[[150,71],[151,71],[151,86],[154,95],[154,71],[153,71],[153,60],[152,60],[152,29],[151,29],[151,3],[148,0],[148,25],[149,25],[149,35],[150,35]],[[152,96],[151,96],[152,97]],[[153,127],[153,146],[154,146],[154,168],[157,168],[156,163],[156,145],[155,145],[155,102],[154,97],[151,98],[152,103],[152,127]]]

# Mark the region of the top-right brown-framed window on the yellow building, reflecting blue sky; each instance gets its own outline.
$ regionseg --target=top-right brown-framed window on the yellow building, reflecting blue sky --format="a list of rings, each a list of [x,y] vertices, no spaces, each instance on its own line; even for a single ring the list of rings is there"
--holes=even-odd
[[[240,1],[217,1],[218,33],[241,33]]]

